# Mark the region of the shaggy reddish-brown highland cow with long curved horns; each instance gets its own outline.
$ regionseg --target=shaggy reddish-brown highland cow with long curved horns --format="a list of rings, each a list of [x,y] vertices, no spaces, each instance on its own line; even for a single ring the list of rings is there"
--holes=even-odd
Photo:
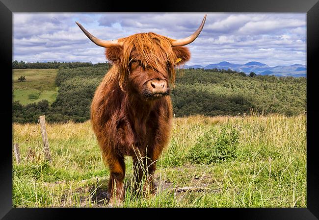
[[[179,40],[139,33],[105,41],[77,23],[90,40],[106,48],[106,59],[113,64],[91,105],[93,130],[110,169],[110,204],[124,199],[125,155],[133,157],[135,182],[140,183],[146,171],[143,190],[154,192],[156,161],[168,144],[171,128],[169,82],[174,84],[176,66],[189,60],[183,46],[197,38],[205,20],[206,15],[194,34]]]

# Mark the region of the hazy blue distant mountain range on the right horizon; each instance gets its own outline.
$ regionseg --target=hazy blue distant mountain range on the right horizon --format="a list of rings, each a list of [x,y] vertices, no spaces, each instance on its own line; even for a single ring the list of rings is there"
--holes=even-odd
[[[203,68],[203,69],[231,69],[238,72],[244,72],[249,74],[250,72],[254,72],[256,74],[260,75],[275,75],[275,76],[293,76],[293,77],[306,77],[307,74],[307,67],[302,64],[293,64],[291,66],[275,66],[275,67],[269,67],[265,63],[260,62],[248,62],[245,64],[235,64],[235,63],[229,63],[226,61],[215,63],[215,64],[209,64],[205,67],[201,65],[193,65],[193,66],[184,66],[185,69],[188,68]]]

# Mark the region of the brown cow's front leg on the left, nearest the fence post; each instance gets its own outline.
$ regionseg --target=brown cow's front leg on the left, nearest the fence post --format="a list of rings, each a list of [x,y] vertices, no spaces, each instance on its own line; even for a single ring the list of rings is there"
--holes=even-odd
[[[110,169],[107,194],[109,205],[120,205],[124,200],[123,180],[125,176],[124,156],[113,156],[107,160]]]

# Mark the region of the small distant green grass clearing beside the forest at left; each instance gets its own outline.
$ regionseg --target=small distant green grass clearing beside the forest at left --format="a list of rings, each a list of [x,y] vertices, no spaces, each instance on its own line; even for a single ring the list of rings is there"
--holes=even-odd
[[[47,99],[51,104],[57,96],[55,77],[58,69],[15,69],[13,70],[13,100],[26,105]],[[27,81],[18,78],[24,75]]]

